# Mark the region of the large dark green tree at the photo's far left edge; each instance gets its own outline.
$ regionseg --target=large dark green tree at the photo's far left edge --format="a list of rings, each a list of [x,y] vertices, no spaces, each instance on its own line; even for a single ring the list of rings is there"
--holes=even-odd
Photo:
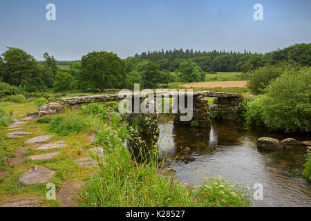
[[[44,90],[43,70],[38,61],[19,48],[8,47],[2,54],[1,77],[13,86],[23,86],[27,91]]]

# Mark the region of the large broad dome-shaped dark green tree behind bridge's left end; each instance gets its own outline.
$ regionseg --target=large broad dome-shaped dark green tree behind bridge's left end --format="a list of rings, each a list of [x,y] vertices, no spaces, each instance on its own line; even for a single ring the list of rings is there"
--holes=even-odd
[[[121,88],[126,64],[113,52],[89,52],[81,59],[79,81],[82,88]]]

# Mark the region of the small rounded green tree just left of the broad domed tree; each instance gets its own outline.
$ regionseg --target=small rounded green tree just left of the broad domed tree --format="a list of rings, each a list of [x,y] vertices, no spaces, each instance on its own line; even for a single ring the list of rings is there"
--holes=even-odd
[[[59,72],[55,76],[54,91],[73,90],[75,88],[75,79],[68,73]]]

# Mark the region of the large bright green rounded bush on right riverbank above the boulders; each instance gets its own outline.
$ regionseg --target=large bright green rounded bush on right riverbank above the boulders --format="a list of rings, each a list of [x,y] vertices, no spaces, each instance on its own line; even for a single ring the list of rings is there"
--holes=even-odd
[[[267,86],[263,122],[272,130],[311,131],[311,68],[288,68]]]

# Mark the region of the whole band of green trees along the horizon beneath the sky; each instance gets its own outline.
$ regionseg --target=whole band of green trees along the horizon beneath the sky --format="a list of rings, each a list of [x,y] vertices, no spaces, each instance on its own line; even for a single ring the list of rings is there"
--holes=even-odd
[[[204,81],[208,71],[249,72],[288,60],[310,66],[311,44],[295,44],[265,54],[180,49],[142,52],[126,59],[105,51],[89,52],[80,61],[56,61],[48,52],[43,58],[37,61],[19,48],[8,47],[0,56],[0,81],[28,92],[47,88],[55,91],[132,89],[135,83],[142,88],[157,88],[169,82]],[[70,66],[64,69],[57,64]]]

